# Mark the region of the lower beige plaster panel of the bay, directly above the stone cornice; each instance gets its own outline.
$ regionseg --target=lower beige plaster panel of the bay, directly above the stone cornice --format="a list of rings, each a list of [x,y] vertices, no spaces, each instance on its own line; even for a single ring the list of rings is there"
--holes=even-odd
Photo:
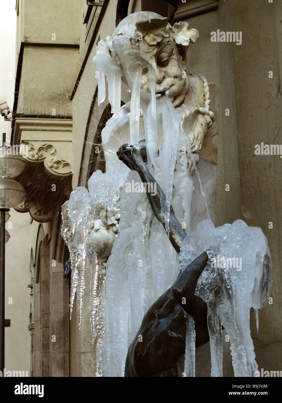
[[[17,113],[51,114],[55,109],[56,115],[70,114],[69,92],[77,57],[77,48],[25,48]],[[41,110],[35,112],[35,108]]]

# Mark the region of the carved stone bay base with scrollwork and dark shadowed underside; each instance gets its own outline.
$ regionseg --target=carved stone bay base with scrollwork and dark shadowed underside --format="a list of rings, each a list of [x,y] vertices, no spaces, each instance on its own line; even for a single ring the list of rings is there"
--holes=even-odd
[[[14,142],[27,162],[16,178],[26,193],[14,209],[38,222],[51,220],[56,205],[71,191],[72,118],[17,116]],[[64,158],[63,158],[64,157]]]

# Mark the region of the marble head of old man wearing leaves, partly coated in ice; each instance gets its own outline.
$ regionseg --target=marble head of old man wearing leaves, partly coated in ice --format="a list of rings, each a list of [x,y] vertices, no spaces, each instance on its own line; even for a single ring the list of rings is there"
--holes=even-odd
[[[151,12],[137,12],[124,19],[115,30],[112,50],[118,58],[124,81],[130,91],[136,84],[136,71],[142,70],[140,98],[148,103],[154,88],[156,98],[164,93],[174,107],[180,106],[189,87],[186,52],[198,40],[196,29],[187,23],[171,27],[167,19]]]

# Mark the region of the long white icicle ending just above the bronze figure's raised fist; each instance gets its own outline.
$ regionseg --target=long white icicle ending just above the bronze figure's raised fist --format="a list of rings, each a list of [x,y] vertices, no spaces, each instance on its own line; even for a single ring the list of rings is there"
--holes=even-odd
[[[142,81],[142,66],[134,65],[134,71],[130,71],[132,82],[132,94],[130,101],[130,143],[138,145],[139,120],[140,120],[140,87]]]

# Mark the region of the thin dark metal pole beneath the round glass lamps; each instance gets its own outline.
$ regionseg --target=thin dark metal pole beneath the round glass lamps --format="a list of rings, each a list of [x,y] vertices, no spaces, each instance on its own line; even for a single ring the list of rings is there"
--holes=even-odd
[[[5,209],[0,219],[0,370],[4,374],[5,357]]]

